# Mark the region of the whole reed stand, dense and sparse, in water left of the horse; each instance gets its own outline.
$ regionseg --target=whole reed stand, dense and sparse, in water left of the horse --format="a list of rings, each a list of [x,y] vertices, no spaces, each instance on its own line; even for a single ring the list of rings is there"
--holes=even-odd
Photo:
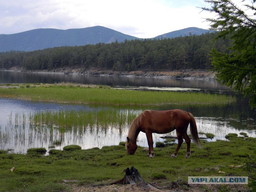
[[[71,140],[82,142],[87,135],[98,138],[113,131],[121,136],[139,113],[140,110],[119,109],[17,112],[10,114],[6,128],[0,129],[0,144],[14,141],[17,145],[29,146],[38,142],[54,148]]]

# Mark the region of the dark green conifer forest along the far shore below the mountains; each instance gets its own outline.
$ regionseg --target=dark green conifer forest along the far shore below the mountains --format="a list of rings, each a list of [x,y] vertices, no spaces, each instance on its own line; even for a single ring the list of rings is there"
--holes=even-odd
[[[177,38],[125,40],[110,44],[64,46],[33,52],[0,53],[0,68],[26,70],[96,68],[99,70],[186,70],[210,69],[211,48],[226,52],[230,42],[217,33]]]

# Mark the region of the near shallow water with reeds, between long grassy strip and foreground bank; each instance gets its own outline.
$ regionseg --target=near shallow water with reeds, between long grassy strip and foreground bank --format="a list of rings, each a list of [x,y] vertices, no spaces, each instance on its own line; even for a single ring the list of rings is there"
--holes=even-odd
[[[28,148],[51,146],[62,149],[66,145],[77,144],[82,149],[101,148],[107,145],[117,145],[125,141],[132,120],[146,108],[125,106],[93,106],[68,105],[44,102],[21,102],[20,100],[0,99],[16,107],[26,110],[10,112],[5,118],[6,124],[0,128],[0,149],[13,149],[15,153],[26,153]],[[46,105],[44,105],[46,104]],[[48,108],[46,108],[48,104]],[[9,106],[9,105],[8,105]],[[26,107],[25,107],[26,106]],[[44,106],[41,107],[41,106]],[[166,110],[181,108],[194,114],[200,137],[205,133],[215,135],[212,141],[225,140],[228,133],[245,132],[255,137],[255,120],[232,114],[226,106],[198,106],[172,105],[155,106],[152,110]],[[234,108],[234,106],[232,107]],[[224,115],[224,111],[226,114]],[[214,112],[214,113],[213,113]],[[223,113],[223,117],[219,114]],[[1,116],[1,120],[2,116]],[[161,134],[154,134],[154,143],[163,142]],[[169,134],[168,134],[169,135]],[[175,136],[176,132],[170,133]],[[211,141],[210,139],[208,141]],[[55,144],[59,142],[60,144]],[[147,146],[146,135],[140,132],[138,145]]]

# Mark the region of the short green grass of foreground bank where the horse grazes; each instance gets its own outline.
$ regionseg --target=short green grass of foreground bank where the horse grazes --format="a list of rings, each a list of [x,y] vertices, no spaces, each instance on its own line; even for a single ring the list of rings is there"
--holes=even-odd
[[[51,150],[48,156],[42,156],[33,150],[26,155],[0,151],[0,191],[71,191],[72,184],[64,185],[62,180],[78,180],[77,186],[111,183],[123,178],[123,170],[131,166],[139,171],[146,182],[166,186],[165,189],[168,190],[171,189],[170,183],[178,180],[186,183],[188,176],[248,176],[243,167],[251,154],[256,153],[256,138],[231,136],[229,139],[230,141],[202,141],[203,149],[192,144],[192,154],[188,159],[184,158],[185,144],[174,159],[170,155],[176,145],[155,148],[155,157],[152,159],[146,156],[147,152],[141,147],[134,156],[127,156],[123,144],[102,149]],[[10,171],[12,167],[15,168],[14,171]],[[252,183],[251,179],[249,183]],[[184,188],[182,185],[180,187]],[[200,187],[210,191],[209,186]],[[227,190],[228,187],[223,186],[226,189],[224,191],[230,191]],[[190,187],[185,188],[189,190]]]

